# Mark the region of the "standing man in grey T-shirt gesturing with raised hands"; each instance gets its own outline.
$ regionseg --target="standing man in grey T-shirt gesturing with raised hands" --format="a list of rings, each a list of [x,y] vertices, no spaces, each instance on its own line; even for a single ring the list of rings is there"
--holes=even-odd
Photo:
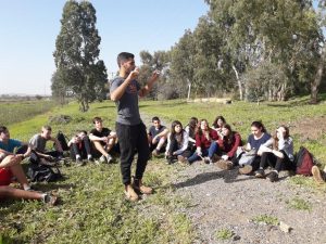
[[[110,97],[117,106],[116,133],[121,150],[121,172],[125,185],[125,194],[128,200],[137,201],[138,193],[151,194],[152,189],[142,184],[142,176],[149,159],[149,145],[146,126],[141,121],[138,95],[145,97],[151,90],[159,78],[159,72],[154,72],[148,84],[140,88],[136,80],[139,70],[135,66],[133,53],[122,52],[117,55],[120,74],[111,81]],[[137,167],[134,182],[131,183],[131,164],[135,149],[138,152]]]

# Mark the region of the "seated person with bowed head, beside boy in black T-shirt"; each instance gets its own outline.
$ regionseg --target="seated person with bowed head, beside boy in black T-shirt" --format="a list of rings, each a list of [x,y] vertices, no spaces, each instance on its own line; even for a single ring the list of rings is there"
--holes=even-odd
[[[72,140],[68,141],[67,145],[71,149],[71,158],[76,160],[78,166],[83,166],[83,159],[92,160],[90,151],[90,141],[85,130],[79,130]]]

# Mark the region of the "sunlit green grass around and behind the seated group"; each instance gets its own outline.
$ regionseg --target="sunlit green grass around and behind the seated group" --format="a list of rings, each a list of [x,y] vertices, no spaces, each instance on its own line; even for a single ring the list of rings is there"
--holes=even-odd
[[[286,124],[293,129],[299,128],[299,132],[293,134],[296,149],[300,144],[305,145],[325,165],[326,130],[321,124],[312,125],[311,130],[316,130],[312,140],[304,137],[305,132],[300,132],[300,126],[305,120],[323,121],[326,103],[309,105],[306,101],[308,98],[300,98],[283,103],[262,103],[260,106],[243,102],[224,105],[146,101],[140,103],[140,112],[146,115],[147,124],[154,115],[166,123],[179,119],[185,125],[191,116],[212,121],[216,115],[223,115],[244,140],[252,120],[262,119],[269,131],[279,124]],[[15,111],[11,113],[14,116]],[[59,115],[70,115],[72,121],[51,124],[53,131],[61,129],[71,136],[77,129],[92,128],[93,116],[101,116],[104,125],[114,128],[116,111],[114,103],[109,101],[92,104],[88,113],[82,114],[77,104],[71,103],[9,125],[12,138],[26,141],[39,131],[41,125],[49,124],[50,117]],[[61,170],[64,180],[36,185],[38,190],[58,193],[61,197],[58,206],[50,208],[26,201],[0,203],[3,243],[192,243],[196,240],[191,222],[181,210],[190,203],[175,195],[171,185],[172,176],[183,170],[179,165],[167,167],[162,158],[150,160],[145,181],[155,189],[155,194],[139,203],[125,201],[118,164],[76,167],[72,163]],[[313,191],[325,191],[311,178],[293,177],[291,182]]]

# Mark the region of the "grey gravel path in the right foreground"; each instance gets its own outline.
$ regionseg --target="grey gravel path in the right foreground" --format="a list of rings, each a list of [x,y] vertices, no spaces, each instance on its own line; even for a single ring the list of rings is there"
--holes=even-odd
[[[150,121],[142,115],[143,121]],[[163,125],[170,125],[162,121]],[[174,165],[167,166],[174,167]],[[291,185],[286,172],[278,182],[240,176],[238,169],[222,170],[195,163],[173,176],[175,194],[186,196],[191,207],[180,209],[191,219],[198,244],[326,244],[326,195]],[[291,207],[301,203],[309,210]],[[260,221],[255,221],[261,218]],[[290,227],[286,233],[268,220]],[[233,232],[221,240],[220,230]]]

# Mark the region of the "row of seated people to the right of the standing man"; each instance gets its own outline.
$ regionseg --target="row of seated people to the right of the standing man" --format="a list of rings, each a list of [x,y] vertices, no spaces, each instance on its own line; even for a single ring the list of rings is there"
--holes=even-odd
[[[170,131],[158,117],[153,117],[152,123],[149,130],[152,155],[165,152],[167,164],[179,162],[191,165],[202,160],[216,163],[225,170],[238,166],[239,174],[253,174],[271,182],[278,180],[280,170],[296,171],[293,140],[286,126],[279,126],[271,134],[261,121],[253,121],[251,134],[243,145],[240,133],[233,130],[223,116],[217,116],[211,127],[206,119],[198,120],[196,117],[191,117],[185,128],[180,121],[174,120]],[[272,171],[265,174],[268,166]],[[321,171],[313,166],[312,175],[317,182],[324,182],[326,167]]]

